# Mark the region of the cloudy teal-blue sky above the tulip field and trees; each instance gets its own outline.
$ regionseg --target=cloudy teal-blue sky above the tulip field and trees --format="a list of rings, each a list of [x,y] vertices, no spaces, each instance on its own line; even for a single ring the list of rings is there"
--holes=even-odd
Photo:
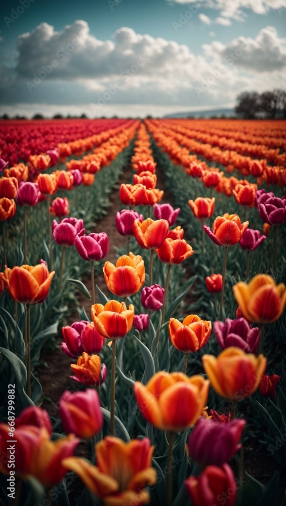
[[[8,0],[0,113],[161,117],[286,91],[286,0]]]

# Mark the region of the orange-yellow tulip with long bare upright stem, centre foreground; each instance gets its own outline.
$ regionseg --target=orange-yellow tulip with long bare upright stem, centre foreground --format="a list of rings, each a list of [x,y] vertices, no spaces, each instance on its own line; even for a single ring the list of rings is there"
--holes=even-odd
[[[110,432],[114,435],[116,339],[124,338],[131,329],[134,306],[131,304],[127,309],[124,302],[120,304],[117,301],[109,301],[105,306],[94,304],[91,307],[91,316],[96,330],[105,338],[112,339]]]

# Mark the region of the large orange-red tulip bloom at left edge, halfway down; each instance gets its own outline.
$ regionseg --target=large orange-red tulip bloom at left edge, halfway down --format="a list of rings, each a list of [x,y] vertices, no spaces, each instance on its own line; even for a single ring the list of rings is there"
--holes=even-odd
[[[55,271],[49,273],[46,264],[6,267],[4,271],[8,293],[14,301],[21,304],[43,302],[50,289]]]

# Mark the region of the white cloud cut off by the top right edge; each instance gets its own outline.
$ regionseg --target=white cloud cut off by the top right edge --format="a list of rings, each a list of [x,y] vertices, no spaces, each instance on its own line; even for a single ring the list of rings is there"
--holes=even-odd
[[[176,4],[195,4],[197,0],[166,0]],[[250,9],[256,14],[266,14],[270,9],[286,9],[286,0],[202,0],[199,2],[208,9],[219,10],[221,16],[243,21],[245,13],[242,9]]]

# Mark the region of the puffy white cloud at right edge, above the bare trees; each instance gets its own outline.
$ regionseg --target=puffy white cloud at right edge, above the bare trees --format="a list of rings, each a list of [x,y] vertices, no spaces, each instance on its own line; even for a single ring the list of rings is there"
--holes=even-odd
[[[228,44],[214,40],[204,44],[203,50],[206,56],[232,58],[234,66],[254,72],[272,72],[286,67],[286,38],[279,38],[273,26],[262,28],[255,39],[240,36]]]

